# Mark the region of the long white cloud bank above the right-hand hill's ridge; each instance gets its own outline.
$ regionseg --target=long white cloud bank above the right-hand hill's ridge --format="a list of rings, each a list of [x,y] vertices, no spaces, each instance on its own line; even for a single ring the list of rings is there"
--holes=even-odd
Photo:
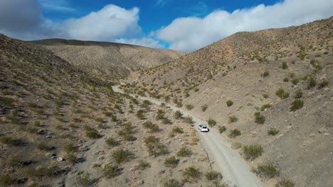
[[[297,26],[333,15],[332,0],[285,0],[273,6],[216,10],[204,18],[176,18],[155,32],[170,48],[191,52],[240,31]]]

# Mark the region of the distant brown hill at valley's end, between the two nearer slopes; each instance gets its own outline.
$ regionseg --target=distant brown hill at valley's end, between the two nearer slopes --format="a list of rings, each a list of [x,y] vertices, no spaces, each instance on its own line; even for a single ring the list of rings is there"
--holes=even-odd
[[[48,39],[32,41],[58,57],[95,76],[114,79],[132,71],[164,64],[184,55],[174,50],[159,50],[115,42]]]

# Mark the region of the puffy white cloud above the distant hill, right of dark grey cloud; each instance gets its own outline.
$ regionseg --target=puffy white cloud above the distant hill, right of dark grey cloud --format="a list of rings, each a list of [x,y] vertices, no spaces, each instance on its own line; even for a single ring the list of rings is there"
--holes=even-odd
[[[100,11],[91,12],[82,18],[73,18],[60,24],[69,38],[79,40],[115,40],[121,36],[140,33],[139,8],[126,10],[107,5]]]

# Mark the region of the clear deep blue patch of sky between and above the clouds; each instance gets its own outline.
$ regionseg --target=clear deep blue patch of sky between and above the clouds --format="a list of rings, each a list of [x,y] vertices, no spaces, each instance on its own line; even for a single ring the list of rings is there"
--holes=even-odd
[[[204,17],[216,9],[229,12],[240,8],[250,8],[258,4],[273,5],[276,0],[238,0],[238,1],[197,1],[197,0],[40,0],[43,6],[43,16],[52,21],[60,22],[68,18],[80,18],[92,11],[99,11],[107,4],[115,4],[122,8],[138,7],[139,26],[148,35],[152,30],[169,25],[179,17]],[[52,6],[47,6],[52,5]]]

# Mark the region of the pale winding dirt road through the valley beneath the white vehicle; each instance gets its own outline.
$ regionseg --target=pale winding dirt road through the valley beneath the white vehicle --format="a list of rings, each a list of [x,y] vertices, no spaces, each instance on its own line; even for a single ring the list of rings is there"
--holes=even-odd
[[[120,90],[119,86],[112,86],[115,92],[124,94]],[[131,94],[132,95],[132,94]],[[134,96],[134,95],[132,95]],[[138,97],[140,100],[148,100],[154,104],[161,105],[161,101],[151,98],[151,97]],[[177,108],[170,104],[166,104],[172,111],[181,111],[184,116],[191,116],[194,120],[194,125],[196,127],[200,124],[206,124],[206,121],[197,118],[189,111],[185,111],[182,108]],[[198,130],[198,128],[195,128]],[[250,167],[243,158],[240,157],[238,152],[231,149],[226,140],[216,132],[216,130],[211,129],[209,132],[199,133],[199,139],[206,148],[211,162],[213,161],[213,169],[220,171],[223,175],[225,181],[231,182],[233,186],[237,187],[262,187],[262,183],[255,174],[250,171]]]

